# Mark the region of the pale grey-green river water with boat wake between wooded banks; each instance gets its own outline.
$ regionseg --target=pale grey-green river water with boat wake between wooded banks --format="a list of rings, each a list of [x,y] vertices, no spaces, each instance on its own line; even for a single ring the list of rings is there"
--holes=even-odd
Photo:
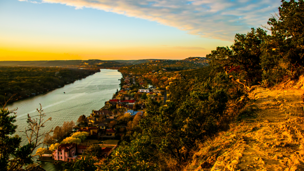
[[[101,72],[60,89],[7,105],[9,109],[18,108],[16,133],[22,137],[23,143],[26,143],[26,138],[19,131],[27,126],[28,113],[30,116],[38,114],[36,109],[39,108],[39,103],[47,115],[45,119],[52,117],[52,120],[47,122],[45,130],[62,126],[64,121],[76,122],[80,115],[88,116],[93,109],[99,110],[104,106],[105,101],[112,98],[113,93],[119,88],[118,79],[121,77],[121,73],[117,70],[101,69]]]

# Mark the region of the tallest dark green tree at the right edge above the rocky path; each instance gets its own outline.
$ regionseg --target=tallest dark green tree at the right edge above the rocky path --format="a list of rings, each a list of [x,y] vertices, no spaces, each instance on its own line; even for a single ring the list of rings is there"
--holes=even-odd
[[[297,78],[304,65],[304,1],[281,1],[279,14],[269,19],[271,35],[264,43],[261,65],[263,79],[276,84]]]

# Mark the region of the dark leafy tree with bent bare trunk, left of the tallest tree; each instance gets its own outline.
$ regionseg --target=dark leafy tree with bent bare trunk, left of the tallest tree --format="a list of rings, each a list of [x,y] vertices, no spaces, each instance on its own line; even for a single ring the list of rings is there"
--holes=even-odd
[[[207,58],[215,71],[224,71],[233,81],[242,85],[246,90],[261,81],[260,57],[261,44],[264,43],[266,32],[260,28],[251,29],[245,34],[236,34],[234,44],[228,47],[217,47]]]

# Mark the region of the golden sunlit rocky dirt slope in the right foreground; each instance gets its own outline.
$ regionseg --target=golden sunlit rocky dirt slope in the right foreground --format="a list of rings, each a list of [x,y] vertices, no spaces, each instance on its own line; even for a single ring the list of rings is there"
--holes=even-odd
[[[302,89],[256,87],[243,119],[202,144],[185,170],[304,170],[302,94]]]

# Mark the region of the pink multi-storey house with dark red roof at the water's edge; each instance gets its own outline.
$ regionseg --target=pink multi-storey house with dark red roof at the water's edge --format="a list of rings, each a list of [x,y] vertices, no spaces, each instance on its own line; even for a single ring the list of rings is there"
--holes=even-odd
[[[68,157],[73,157],[77,152],[76,143],[60,144],[58,149],[52,151],[54,160],[66,161]]]

